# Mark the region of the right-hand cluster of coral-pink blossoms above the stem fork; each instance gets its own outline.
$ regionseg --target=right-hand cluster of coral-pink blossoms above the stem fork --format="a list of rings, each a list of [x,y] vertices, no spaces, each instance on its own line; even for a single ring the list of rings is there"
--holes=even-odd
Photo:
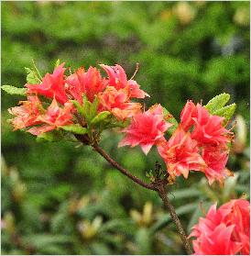
[[[224,117],[213,116],[201,104],[195,106],[188,101],[181,111],[180,125],[167,140],[165,131],[172,125],[165,121],[158,105],[132,118],[119,145],[139,144],[146,154],[156,145],[172,177],[182,174],[187,178],[189,171],[201,171],[209,184],[214,181],[223,184],[224,178],[231,174],[225,168],[231,133],[223,122]]]

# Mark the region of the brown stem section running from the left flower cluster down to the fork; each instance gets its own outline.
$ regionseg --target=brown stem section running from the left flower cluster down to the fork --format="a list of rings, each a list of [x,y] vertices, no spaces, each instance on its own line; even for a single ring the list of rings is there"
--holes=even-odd
[[[136,184],[139,184],[147,189],[150,190],[157,190],[156,186],[154,184],[146,184],[140,179],[138,179],[133,174],[129,173],[125,168],[120,166],[115,160],[113,160],[102,148],[100,148],[97,144],[93,145],[93,150],[97,151],[101,156],[104,157],[106,161],[109,161],[120,173],[123,173],[125,176],[127,176],[129,179],[131,179]]]

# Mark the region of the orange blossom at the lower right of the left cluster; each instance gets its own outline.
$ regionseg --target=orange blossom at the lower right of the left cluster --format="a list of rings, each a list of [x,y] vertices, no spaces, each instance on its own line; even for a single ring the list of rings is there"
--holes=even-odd
[[[110,111],[117,119],[125,120],[133,117],[141,109],[139,103],[130,102],[128,89],[116,90],[115,87],[107,86],[104,93],[99,94],[99,111]]]

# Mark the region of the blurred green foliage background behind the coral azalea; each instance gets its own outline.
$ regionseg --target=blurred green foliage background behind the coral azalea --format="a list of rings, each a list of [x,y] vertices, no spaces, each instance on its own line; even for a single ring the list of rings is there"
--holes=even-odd
[[[2,84],[23,86],[34,59],[43,73],[57,59],[71,67],[121,64],[156,102],[179,118],[187,99],[222,92],[236,102],[235,177],[209,187],[202,173],[171,186],[187,232],[213,202],[249,198],[249,2],[1,2]],[[93,150],[37,143],[13,132],[2,93],[2,254],[183,254],[158,195],[132,184]],[[161,161],[152,150],[102,146],[147,181]]]

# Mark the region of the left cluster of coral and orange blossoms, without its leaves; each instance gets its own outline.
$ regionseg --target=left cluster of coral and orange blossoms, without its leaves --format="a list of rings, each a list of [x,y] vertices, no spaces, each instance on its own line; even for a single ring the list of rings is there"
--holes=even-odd
[[[97,113],[109,111],[117,120],[124,121],[139,113],[141,105],[132,102],[132,99],[144,98],[148,96],[147,93],[140,89],[135,80],[127,80],[121,66],[101,67],[107,72],[108,78],[102,77],[100,71],[93,67],[87,71],[80,68],[66,75],[64,63],[61,63],[39,83],[27,83],[27,101],[21,101],[21,106],[9,109],[16,116],[11,120],[14,128],[27,128],[27,132],[38,136],[74,124],[76,109],[72,100],[82,106],[83,95],[90,103],[97,99]],[[47,109],[38,96],[52,99]]]

